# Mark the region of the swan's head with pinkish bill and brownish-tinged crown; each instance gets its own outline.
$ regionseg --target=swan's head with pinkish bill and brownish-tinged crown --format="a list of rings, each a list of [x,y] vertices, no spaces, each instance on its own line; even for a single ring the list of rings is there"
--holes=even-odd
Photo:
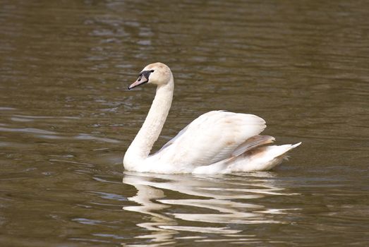
[[[171,70],[167,65],[162,63],[149,64],[138,74],[137,80],[128,87],[128,90],[145,83],[165,85],[169,83],[171,77]]]

